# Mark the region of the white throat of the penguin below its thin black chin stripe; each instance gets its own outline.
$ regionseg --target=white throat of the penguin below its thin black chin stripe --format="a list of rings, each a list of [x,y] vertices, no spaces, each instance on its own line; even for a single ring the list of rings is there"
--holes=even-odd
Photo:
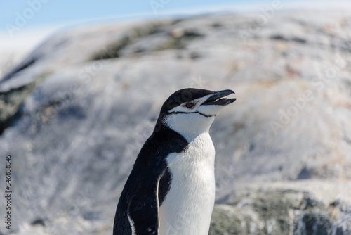
[[[197,115],[199,117],[193,118],[191,115]],[[196,139],[197,136],[208,134],[214,119],[215,116],[204,117],[199,114],[176,114],[168,115],[158,122],[160,122],[162,126],[177,132],[190,143]]]

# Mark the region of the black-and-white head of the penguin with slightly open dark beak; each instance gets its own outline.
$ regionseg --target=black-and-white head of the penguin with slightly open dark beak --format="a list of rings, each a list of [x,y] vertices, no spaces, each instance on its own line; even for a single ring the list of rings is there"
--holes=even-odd
[[[234,94],[234,91],[181,89],[164,102],[159,122],[183,136],[194,137],[208,132],[216,114],[236,100],[223,98],[230,94]]]

